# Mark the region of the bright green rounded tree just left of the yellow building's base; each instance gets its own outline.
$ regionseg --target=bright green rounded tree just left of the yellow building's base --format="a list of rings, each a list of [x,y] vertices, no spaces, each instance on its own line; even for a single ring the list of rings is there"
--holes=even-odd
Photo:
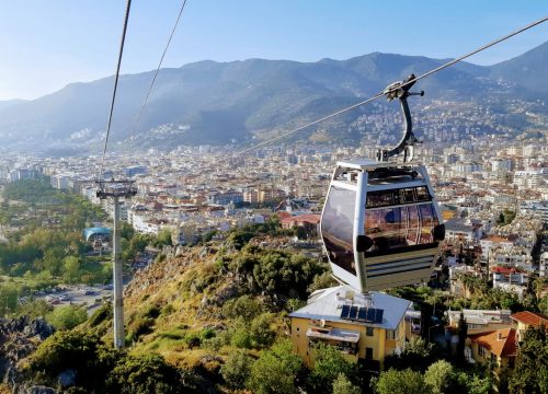
[[[272,350],[263,350],[251,367],[247,385],[258,394],[296,393],[301,370],[302,361],[293,352],[292,343],[282,340]]]

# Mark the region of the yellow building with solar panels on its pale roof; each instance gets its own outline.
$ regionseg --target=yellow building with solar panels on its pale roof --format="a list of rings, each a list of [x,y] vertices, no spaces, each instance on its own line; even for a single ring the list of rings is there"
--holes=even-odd
[[[403,349],[406,312],[411,301],[378,291],[356,293],[350,286],[315,291],[306,306],[289,314],[294,350],[307,366],[324,343],[354,357],[372,371]]]

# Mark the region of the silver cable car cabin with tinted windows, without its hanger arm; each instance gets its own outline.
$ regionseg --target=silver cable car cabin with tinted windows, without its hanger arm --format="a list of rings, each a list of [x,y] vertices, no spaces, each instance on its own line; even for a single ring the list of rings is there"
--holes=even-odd
[[[421,164],[338,163],[321,218],[333,275],[367,292],[427,281],[444,225]]]

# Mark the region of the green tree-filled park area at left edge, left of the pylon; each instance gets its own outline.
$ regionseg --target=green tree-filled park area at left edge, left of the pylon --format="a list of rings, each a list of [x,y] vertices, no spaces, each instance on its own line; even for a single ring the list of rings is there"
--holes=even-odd
[[[112,266],[87,256],[82,230],[105,218],[99,207],[53,188],[48,178],[5,185],[0,225],[0,316],[19,313],[16,298],[59,283],[104,283]],[[15,299],[15,301],[13,301]]]

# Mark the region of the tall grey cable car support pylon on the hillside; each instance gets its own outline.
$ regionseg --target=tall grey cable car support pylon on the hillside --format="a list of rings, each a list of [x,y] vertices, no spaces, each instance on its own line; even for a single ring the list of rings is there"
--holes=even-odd
[[[112,234],[112,268],[114,287],[114,348],[125,345],[124,334],[124,281],[122,260],[119,259],[119,197],[132,198],[137,194],[133,181],[100,181],[96,196],[101,199],[111,197],[114,204],[114,231]]]

